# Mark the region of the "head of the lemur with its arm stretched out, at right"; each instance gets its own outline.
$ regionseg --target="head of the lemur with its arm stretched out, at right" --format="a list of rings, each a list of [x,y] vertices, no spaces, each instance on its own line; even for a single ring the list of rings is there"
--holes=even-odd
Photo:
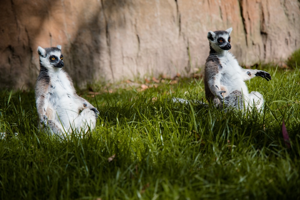
[[[228,28],[226,31],[209,31],[207,38],[211,50],[218,53],[222,53],[231,49],[230,45],[230,33],[232,28]]]

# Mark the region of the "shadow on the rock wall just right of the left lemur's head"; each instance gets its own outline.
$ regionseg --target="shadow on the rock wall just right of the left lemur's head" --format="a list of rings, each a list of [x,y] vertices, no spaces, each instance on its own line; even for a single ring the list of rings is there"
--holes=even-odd
[[[110,29],[117,29],[125,24],[122,8],[128,4],[132,5],[126,0],[101,0],[96,8],[87,6],[81,9],[82,15],[87,12],[92,14],[84,20],[77,18],[79,26],[65,50],[70,57],[67,58],[70,65],[66,70],[75,85],[82,87],[95,80],[115,79]]]

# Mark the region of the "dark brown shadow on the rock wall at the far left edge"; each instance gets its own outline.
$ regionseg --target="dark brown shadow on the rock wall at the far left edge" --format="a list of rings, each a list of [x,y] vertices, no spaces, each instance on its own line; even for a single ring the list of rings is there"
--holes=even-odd
[[[42,3],[0,1],[0,88],[32,87],[39,67],[32,62],[32,41],[48,7]]]

